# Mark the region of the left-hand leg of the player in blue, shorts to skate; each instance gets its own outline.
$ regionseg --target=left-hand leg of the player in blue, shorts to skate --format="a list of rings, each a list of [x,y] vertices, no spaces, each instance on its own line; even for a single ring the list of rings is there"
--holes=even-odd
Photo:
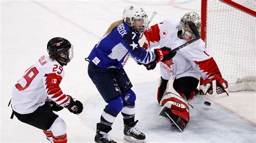
[[[108,133],[112,130],[114,119],[123,108],[120,98],[122,92],[116,78],[118,70],[99,68],[92,63],[88,66],[88,74],[92,82],[107,103],[100,116],[100,123],[97,123],[96,142],[114,142]]]

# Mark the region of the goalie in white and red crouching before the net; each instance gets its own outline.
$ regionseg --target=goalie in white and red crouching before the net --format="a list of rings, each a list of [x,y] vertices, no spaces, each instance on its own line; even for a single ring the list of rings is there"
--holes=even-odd
[[[156,46],[174,49],[196,37],[190,25],[194,25],[193,29],[197,30],[199,35],[201,19],[196,12],[186,13],[180,23],[170,18],[151,26],[140,37],[139,43],[146,49]],[[148,70],[154,69],[156,63],[151,62],[145,66]],[[199,89],[204,95],[228,96],[227,81],[221,77],[217,64],[201,39],[179,49],[171,60],[160,62],[160,73],[157,100],[163,107],[161,115],[167,116],[167,112],[182,131],[189,121],[187,99],[194,95],[200,77]],[[166,87],[169,88],[167,93]]]

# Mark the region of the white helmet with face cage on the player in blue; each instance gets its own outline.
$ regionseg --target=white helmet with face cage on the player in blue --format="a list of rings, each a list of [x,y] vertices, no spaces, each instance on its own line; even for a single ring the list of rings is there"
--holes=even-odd
[[[138,28],[134,27],[134,20],[144,20],[143,26],[139,26]],[[147,22],[147,14],[146,11],[139,5],[128,5],[124,8],[123,12],[123,20],[126,24],[130,25],[133,30],[138,33],[143,33],[148,27]]]

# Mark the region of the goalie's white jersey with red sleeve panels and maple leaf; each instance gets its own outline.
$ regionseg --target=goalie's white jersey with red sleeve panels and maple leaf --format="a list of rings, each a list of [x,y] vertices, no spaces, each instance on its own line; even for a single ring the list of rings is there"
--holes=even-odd
[[[187,42],[178,38],[178,27],[179,23],[176,20],[166,19],[148,28],[139,43],[144,48],[177,48]],[[214,74],[220,74],[220,71],[205,48],[205,42],[199,39],[181,48],[173,59],[160,62],[160,73],[165,80],[169,80],[172,75],[176,75],[176,78],[192,76],[198,80],[202,77],[205,80]]]

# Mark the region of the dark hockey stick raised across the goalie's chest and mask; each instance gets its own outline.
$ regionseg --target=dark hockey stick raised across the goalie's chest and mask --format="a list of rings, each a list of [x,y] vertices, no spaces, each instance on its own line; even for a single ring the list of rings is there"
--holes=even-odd
[[[198,39],[200,39],[200,34],[199,34],[198,30],[197,30],[196,25],[194,25],[193,22],[187,22],[187,24],[188,24],[188,26],[190,26],[190,28],[191,28],[193,34],[195,35],[194,39],[192,39],[192,40],[186,42],[186,43],[183,44],[183,45],[180,45],[180,46],[177,47],[177,48],[172,49],[171,51],[169,51],[169,53],[177,52],[179,49],[181,49],[181,48],[183,48],[183,47],[185,47],[185,46],[187,46],[187,45],[190,45],[192,42],[197,41]]]

